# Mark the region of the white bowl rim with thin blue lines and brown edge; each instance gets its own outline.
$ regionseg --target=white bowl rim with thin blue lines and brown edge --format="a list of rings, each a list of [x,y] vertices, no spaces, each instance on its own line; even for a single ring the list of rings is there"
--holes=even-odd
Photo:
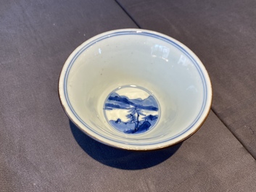
[[[194,60],[194,62],[199,67],[199,70],[202,73],[203,78],[205,79],[205,89],[206,89],[206,96],[205,96],[205,107],[201,109],[201,114],[199,117],[197,116],[197,121],[193,122],[189,128],[186,129],[186,131],[183,133],[178,133],[178,136],[175,138],[171,138],[168,141],[163,141],[161,143],[152,143],[152,144],[146,144],[146,145],[136,145],[136,144],[130,144],[130,143],[120,143],[117,141],[112,141],[108,138],[103,137],[102,135],[95,133],[94,131],[89,128],[89,126],[86,123],[81,122],[73,112],[72,109],[70,109],[70,104],[68,104],[69,101],[67,101],[65,94],[65,78],[67,78],[68,72],[71,69],[72,65],[70,65],[74,58],[78,55],[79,52],[83,52],[85,50],[84,48],[87,46],[90,46],[91,44],[94,44],[98,41],[102,41],[104,38],[110,38],[112,36],[120,36],[120,35],[128,35],[128,34],[137,34],[137,35],[144,35],[144,36],[151,36],[154,38],[160,38],[162,40],[167,41],[168,43],[174,43],[176,47],[178,46],[178,49],[182,50],[187,57]],[[199,128],[203,125],[205,120],[207,119],[207,116],[210,113],[210,108],[212,106],[212,85],[211,80],[208,75],[207,70],[205,69],[204,64],[200,61],[200,59],[197,57],[196,54],[194,54],[191,49],[189,49],[187,46],[183,45],[180,41],[177,41],[174,38],[171,38],[170,36],[166,36],[165,34],[153,31],[153,30],[144,30],[144,29],[137,29],[137,28],[125,28],[125,29],[118,29],[118,30],[110,30],[104,33],[100,33],[99,35],[96,35],[92,38],[89,38],[87,41],[84,41],[80,46],[78,46],[67,58],[65,61],[65,64],[62,67],[62,70],[59,74],[59,83],[58,83],[58,93],[59,93],[59,101],[62,104],[62,108],[64,109],[65,113],[67,114],[67,117],[80,129],[83,131],[83,133],[86,133],[86,135],[90,136],[91,138],[94,138],[94,140],[99,141],[100,143],[104,143],[108,146],[113,146],[118,149],[129,149],[129,150],[136,150],[136,151],[146,151],[146,150],[154,150],[154,149],[162,149],[168,146],[176,145],[177,143],[180,143],[187,138],[189,138],[191,135],[197,132]],[[200,113],[200,112],[199,112]]]

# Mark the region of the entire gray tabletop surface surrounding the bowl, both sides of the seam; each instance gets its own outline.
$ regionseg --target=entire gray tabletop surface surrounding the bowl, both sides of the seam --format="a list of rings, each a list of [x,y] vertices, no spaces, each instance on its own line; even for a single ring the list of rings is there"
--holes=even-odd
[[[256,1],[1,1],[0,191],[256,191]],[[98,143],[58,98],[69,54],[107,30],[145,28],[197,54],[212,110],[159,151]]]

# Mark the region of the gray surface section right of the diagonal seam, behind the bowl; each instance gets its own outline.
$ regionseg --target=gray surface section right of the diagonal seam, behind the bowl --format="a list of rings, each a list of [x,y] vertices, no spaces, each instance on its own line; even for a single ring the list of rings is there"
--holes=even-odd
[[[212,109],[256,158],[256,1],[118,2],[141,28],[197,54],[212,80]]]

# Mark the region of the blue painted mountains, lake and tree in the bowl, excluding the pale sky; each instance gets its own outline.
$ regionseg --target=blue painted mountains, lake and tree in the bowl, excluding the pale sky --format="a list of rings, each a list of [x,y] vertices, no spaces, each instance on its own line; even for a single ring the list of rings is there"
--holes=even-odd
[[[144,133],[158,119],[158,105],[153,96],[146,99],[129,99],[112,93],[104,109],[110,124],[123,133]]]

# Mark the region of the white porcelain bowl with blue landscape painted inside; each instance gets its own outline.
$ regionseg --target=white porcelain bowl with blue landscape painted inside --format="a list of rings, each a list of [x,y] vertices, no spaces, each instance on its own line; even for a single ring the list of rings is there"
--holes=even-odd
[[[78,46],[59,76],[59,98],[84,133],[121,149],[172,146],[195,133],[212,103],[199,58],[162,33],[112,30]]]

